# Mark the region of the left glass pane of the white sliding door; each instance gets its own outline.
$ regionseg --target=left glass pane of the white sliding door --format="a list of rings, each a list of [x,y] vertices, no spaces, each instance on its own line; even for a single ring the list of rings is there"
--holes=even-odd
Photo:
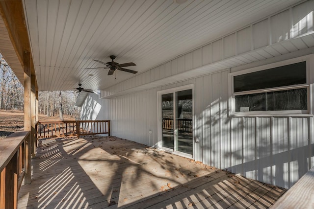
[[[162,146],[173,149],[173,93],[161,95],[162,101]]]

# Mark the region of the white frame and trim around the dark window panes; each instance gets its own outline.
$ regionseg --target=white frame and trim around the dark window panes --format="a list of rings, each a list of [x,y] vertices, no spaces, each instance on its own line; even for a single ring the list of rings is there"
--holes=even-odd
[[[239,70],[236,72],[229,73],[229,116],[313,116],[312,114],[312,88],[310,88],[310,62],[311,57],[299,57],[291,60],[286,60],[277,63],[271,63],[255,68],[250,68],[246,70]],[[313,57],[312,57],[313,58]],[[272,68],[277,68],[285,65],[291,65],[298,62],[306,62],[306,84],[298,84],[298,85],[290,85],[290,86],[282,86],[282,87],[274,87],[267,89],[259,89],[259,90],[250,90],[243,92],[234,92],[234,77],[237,75],[247,74],[256,71],[268,70]],[[281,111],[249,111],[249,112],[235,112],[235,96],[236,95],[244,95],[244,94],[253,94],[253,93],[266,93],[266,92],[274,92],[274,91],[282,91],[282,90],[291,90],[291,89],[301,89],[307,88],[307,110],[281,110]]]

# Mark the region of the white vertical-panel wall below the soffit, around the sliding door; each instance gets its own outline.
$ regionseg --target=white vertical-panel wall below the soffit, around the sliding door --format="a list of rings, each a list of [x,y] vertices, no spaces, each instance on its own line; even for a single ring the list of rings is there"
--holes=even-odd
[[[313,117],[228,117],[228,73],[111,98],[111,135],[156,146],[157,91],[194,84],[194,159],[291,187],[314,165]]]

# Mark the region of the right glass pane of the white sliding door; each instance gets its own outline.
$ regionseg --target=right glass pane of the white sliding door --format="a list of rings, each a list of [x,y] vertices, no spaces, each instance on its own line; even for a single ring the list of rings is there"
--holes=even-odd
[[[176,150],[193,154],[192,90],[176,93]]]

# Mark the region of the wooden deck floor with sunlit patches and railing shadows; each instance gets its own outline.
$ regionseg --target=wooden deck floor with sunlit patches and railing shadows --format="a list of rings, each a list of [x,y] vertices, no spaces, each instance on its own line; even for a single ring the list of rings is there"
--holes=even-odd
[[[18,208],[268,208],[285,190],[115,137],[41,140]]]

